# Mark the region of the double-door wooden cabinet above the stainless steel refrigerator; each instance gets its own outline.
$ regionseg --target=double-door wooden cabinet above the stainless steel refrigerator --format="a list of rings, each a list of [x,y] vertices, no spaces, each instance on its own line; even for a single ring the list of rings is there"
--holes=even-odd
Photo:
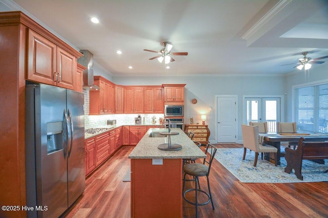
[[[27,80],[74,89],[76,74],[74,55],[29,30]]]

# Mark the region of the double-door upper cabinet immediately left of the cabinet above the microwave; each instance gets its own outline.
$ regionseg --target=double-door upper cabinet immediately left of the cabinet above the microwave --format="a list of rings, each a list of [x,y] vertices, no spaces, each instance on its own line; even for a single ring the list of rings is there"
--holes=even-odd
[[[163,113],[163,88],[145,87],[145,106],[144,113]]]

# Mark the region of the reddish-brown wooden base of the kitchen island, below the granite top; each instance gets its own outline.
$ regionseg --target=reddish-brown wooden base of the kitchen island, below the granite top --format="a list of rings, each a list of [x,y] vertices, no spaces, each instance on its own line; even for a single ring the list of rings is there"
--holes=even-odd
[[[131,217],[182,217],[181,168],[182,159],[131,159]]]

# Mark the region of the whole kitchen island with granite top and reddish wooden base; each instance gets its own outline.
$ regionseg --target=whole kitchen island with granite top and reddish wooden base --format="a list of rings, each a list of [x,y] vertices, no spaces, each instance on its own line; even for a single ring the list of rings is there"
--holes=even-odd
[[[167,129],[166,129],[167,130]],[[179,128],[173,128],[171,142],[181,150],[162,151],[167,137],[149,137],[150,129],[129,155],[131,159],[131,217],[182,217],[182,159],[205,158],[195,143]]]

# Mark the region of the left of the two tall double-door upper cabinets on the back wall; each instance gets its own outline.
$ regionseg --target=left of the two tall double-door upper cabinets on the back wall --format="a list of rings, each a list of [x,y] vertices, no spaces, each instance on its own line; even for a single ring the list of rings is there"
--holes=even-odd
[[[124,88],[124,113],[144,113],[144,87]]]

